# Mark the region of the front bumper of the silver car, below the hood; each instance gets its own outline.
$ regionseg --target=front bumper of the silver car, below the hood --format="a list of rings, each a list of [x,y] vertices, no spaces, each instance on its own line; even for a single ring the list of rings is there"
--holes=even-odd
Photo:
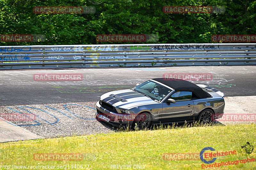
[[[97,111],[95,113],[95,116],[98,121],[103,121],[116,127],[131,126],[135,117],[134,114],[130,115],[130,114],[113,113],[107,110],[106,108],[102,107],[99,101],[96,103],[96,110]],[[107,122],[106,120],[99,118],[100,115],[107,117],[108,119],[110,119],[110,121]]]

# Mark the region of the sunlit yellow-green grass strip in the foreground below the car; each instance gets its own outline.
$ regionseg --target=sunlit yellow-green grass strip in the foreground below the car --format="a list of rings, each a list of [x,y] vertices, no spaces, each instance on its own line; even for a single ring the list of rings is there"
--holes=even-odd
[[[204,126],[190,128],[114,132],[87,136],[36,139],[0,144],[0,166],[89,165],[88,169],[111,169],[111,165],[145,165],[145,169],[202,169],[201,160],[164,160],[164,153],[199,153],[204,147],[235,155],[217,157],[214,163],[256,158],[242,145],[256,147],[256,126]],[[36,161],[35,153],[82,153],[80,161]],[[87,166],[88,167],[88,166]],[[143,168],[143,166],[142,166]],[[70,168],[71,169],[71,168]],[[113,167],[112,167],[113,169]],[[133,169],[133,168],[132,168]],[[255,162],[207,169],[256,169]]]

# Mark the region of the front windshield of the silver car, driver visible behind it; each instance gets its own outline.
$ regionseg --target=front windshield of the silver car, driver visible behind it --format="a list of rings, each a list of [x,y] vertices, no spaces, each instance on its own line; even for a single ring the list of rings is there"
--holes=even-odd
[[[145,81],[132,90],[148,96],[156,102],[161,102],[172,90],[151,80]]]

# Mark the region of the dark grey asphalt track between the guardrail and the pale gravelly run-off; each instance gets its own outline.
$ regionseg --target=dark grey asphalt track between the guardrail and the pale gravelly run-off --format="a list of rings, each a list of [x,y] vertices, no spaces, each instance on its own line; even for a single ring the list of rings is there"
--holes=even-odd
[[[34,74],[82,74],[82,81],[34,81]],[[207,73],[212,85],[225,96],[256,94],[256,66],[140,67],[75,70],[0,71],[1,106],[98,101],[105,92],[128,89],[165,73]],[[230,85],[231,84],[231,85]],[[222,85],[222,86],[221,86]]]

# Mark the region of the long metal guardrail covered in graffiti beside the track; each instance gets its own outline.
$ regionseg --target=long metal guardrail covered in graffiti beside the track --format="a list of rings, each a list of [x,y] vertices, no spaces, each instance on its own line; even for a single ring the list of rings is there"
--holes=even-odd
[[[256,44],[0,46],[0,70],[256,64]]]

